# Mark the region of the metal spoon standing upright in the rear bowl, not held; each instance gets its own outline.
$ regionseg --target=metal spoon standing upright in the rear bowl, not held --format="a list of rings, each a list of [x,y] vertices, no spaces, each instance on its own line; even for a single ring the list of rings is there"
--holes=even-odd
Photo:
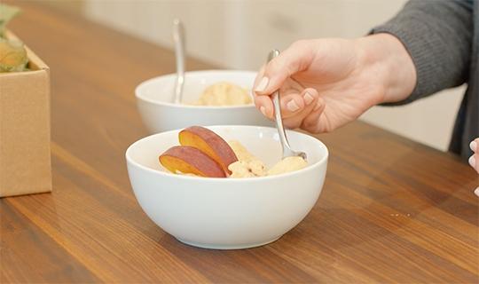
[[[175,84],[176,104],[183,99],[183,85],[185,83],[185,28],[179,19],[173,20],[173,41],[175,42],[175,57],[177,59],[177,82]]]

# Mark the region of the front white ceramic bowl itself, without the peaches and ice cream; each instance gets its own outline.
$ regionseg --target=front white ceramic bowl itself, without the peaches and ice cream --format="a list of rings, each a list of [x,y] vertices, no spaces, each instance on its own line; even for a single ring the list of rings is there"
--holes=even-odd
[[[213,126],[225,140],[237,139],[271,165],[281,158],[276,129]],[[213,178],[174,175],[158,156],[176,146],[178,130],[142,138],[126,152],[130,183],[141,208],[177,240],[201,248],[252,248],[276,241],[301,222],[323,186],[327,148],[318,139],[287,131],[309,166],[271,177]]]

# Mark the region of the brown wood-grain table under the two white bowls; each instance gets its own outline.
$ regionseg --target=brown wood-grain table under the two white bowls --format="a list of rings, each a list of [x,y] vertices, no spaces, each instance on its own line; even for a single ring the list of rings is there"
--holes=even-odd
[[[11,28],[51,67],[54,191],[0,201],[2,283],[479,281],[475,171],[363,122],[318,136],[331,153],[324,191],[279,241],[179,243],[140,209],[124,161],[148,134],[133,90],[173,72],[172,52],[18,4]]]

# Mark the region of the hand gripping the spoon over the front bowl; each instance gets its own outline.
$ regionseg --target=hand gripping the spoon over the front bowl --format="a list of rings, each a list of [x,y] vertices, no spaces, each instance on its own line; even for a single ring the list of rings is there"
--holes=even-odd
[[[255,105],[271,119],[270,96],[279,90],[287,128],[328,132],[371,106],[405,99],[415,83],[412,59],[395,36],[303,40],[260,70]]]

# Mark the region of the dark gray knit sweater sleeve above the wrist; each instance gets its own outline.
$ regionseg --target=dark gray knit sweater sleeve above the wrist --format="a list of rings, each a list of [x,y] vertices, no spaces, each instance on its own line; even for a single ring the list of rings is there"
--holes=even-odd
[[[417,83],[402,105],[467,81],[473,36],[473,0],[411,0],[372,34],[389,33],[404,44]],[[391,104],[389,104],[391,105]]]

